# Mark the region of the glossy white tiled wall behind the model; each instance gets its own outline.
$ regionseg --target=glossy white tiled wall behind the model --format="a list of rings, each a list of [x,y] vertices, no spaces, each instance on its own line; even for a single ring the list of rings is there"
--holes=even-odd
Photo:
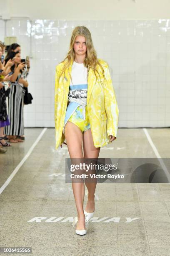
[[[75,26],[87,26],[98,58],[110,65],[120,110],[119,127],[170,126],[170,20],[7,21],[22,58],[32,53],[25,127],[54,127],[55,66],[68,51]],[[0,20],[0,40],[4,40]],[[32,50],[31,50],[32,49]]]

